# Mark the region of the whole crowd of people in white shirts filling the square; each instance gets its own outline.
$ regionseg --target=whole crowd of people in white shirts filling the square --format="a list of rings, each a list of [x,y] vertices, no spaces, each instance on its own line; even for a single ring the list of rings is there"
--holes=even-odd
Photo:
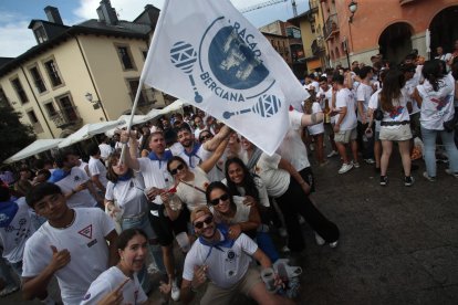
[[[33,170],[21,168],[18,179],[2,170],[0,294],[21,286],[25,299],[55,304],[48,293],[55,276],[64,304],[187,304],[199,290],[200,304],[229,304],[238,294],[294,304],[288,291],[301,274],[293,266],[305,246],[301,222],[318,245],[336,248],[340,240],[339,227],[310,197],[308,151],[321,168],[340,156],[341,175],[364,161],[387,187],[396,143],[403,183],[412,187],[418,138],[424,178],[436,181],[441,148],[446,172],[458,178],[458,54],[424,61],[413,53],[400,65],[372,61],[306,75],[310,98],[303,113],[289,112],[289,130],[272,156],[197,111],[103,136],[86,147],[87,162],[63,150],[52,161],[35,160]],[[277,233],[283,245],[273,242]],[[164,278],[159,287],[153,272]],[[160,301],[148,299],[153,290]]]

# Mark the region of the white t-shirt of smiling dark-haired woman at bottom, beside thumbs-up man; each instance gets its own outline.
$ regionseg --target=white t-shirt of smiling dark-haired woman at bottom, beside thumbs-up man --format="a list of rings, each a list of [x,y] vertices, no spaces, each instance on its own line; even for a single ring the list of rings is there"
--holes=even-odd
[[[96,304],[123,284],[127,276],[117,266],[112,266],[98,275],[94,282],[92,282],[91,287],[84,295],[84,299],[81,305]],[[134,274],[133,280],[131,278],[131,281],[124,285],[122,292],[122,304],[142,304],[148,301],[148,297],[143,291],[136,274]]]

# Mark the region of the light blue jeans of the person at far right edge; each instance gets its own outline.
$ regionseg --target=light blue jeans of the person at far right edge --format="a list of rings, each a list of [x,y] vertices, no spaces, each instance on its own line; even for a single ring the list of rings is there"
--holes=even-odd
[[[455,132],[426,129],[421,126],[421,136],[424,144],[424,155],[426,171],[429,177],[436,177],[436,137],[440,135],[443,144],[447,151],[449,168],[452,172],[458,172],[458,149],[455,146]]]

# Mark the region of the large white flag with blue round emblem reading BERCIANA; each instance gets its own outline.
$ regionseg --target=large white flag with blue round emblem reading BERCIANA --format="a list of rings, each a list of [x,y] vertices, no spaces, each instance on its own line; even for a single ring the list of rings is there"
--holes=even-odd
[[[211,114],[269,155],[309,95],[229,0],[165,1],[143,81]]]

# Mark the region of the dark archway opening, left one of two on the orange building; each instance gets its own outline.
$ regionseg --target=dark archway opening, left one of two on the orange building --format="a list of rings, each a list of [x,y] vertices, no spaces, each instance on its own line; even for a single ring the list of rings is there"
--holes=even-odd
[[[406,22],[396,22],[388,25],[378,38],[379,53],[383,57],[400,63],[412,51],[413,28]]]

